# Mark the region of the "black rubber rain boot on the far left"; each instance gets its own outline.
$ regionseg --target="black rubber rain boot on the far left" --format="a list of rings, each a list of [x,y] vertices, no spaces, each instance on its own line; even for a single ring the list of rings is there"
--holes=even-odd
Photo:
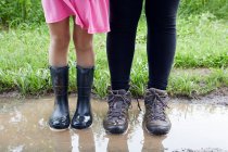
[[[65,130],[69,127],[68,110],[68,66],[50,67],[55,101],[54,111],[49,119],[52,130]]]

